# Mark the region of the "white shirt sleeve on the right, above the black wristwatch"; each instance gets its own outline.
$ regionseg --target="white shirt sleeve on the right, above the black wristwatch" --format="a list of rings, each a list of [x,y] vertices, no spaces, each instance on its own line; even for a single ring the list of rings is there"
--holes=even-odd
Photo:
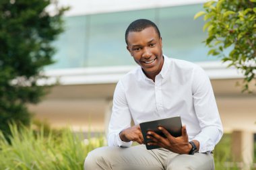
[[[214,150],[223,134],[214,91],[205,71],[197,67],[192,78],[193,104],[201,132],[193,138],[200,143],[199,153]]]

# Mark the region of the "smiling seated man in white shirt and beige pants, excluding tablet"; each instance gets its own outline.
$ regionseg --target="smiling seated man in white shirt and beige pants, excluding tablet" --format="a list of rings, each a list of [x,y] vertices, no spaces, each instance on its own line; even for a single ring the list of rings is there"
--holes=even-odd
[[[223,130],[210,79],[197,65],[164,56],[160,32],[148,19],[132,22],[125,41],[139,67],[117,83],[108,146],[90,152],[84,168],[214,169],[212,151]],[[147,150],[139,124],[174,116],[181,116],[182,136],[159,127],[166,138],[152,131],[147,138],[161,148]]]

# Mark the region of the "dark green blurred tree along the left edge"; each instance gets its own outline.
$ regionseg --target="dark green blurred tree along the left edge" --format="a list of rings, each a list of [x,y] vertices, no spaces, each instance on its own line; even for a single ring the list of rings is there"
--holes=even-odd
[[[61,16],[67,8],[45,9],[51,0],[0,1],[0,130],[9,134],[9,121],[30,124],[27,103],[38,103],[47,87],[36,81],[53,63],[51,42],[63,32]]]

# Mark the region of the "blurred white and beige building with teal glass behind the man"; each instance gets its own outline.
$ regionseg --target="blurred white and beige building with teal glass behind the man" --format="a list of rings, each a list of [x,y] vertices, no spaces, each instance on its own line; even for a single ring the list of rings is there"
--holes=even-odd
[[[222,124],[224,140],[239,161],[253,163],[256,133],[256,96],[241,93],[243,75],[207,55],[203,40],[203,0],[59,0],[71,9],[64,16],[64,32],[53,46],[55,63],[44,68],[51,77],[42,85],[59,80],[36,105],[29,104],[34,119],[53,128],[70,126],[73,132],[106,133],[117,81],[136,67],[126,50],[125,30],[135,19],[155,22],[170,58],[200,65],[210,77]],[[51,6],[48,7],[51,12]],[[227,52],[229,52],[227,50]],[[227,139],[228,138],[228,139]],[[224,141],[224,142],[225,142]],[[228,165],[227,165],[228,166]]]

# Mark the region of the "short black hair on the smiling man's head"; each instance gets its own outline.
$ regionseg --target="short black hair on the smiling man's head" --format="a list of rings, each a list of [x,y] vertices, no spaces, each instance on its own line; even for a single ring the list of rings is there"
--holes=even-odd
[[[154,24],[154,22],[148,19],[137,19],[134,22],[132,22],[125,31],[126,44],[128,45],[127,36],[129,32],[141,32],[142,30],[149,27],[153,27],[156,30],[156,33],[158,34],[159,38],[161,37],[160,31],[158,30],[158,27],[156,26],[156,24]]]

